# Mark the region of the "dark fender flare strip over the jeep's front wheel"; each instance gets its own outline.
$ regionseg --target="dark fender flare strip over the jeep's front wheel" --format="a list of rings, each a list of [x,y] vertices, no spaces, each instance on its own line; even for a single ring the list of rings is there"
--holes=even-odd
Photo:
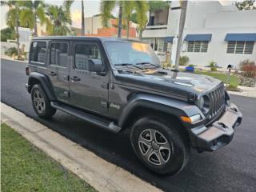
[[[198,109],[198,106],[192,105],[188,102],[184,102],[174,98],[166,98],[158,95],[151,94],[136,94],[130,98],[130,102],[126,104],[120,118],[118,120],[118,126],[125,126],[127,118],[132,114],[136,108],[144,107],[146,109],[158,110],[160,112],[174,115],[176,118],[180,119],[180,116],[192,116],[195,114],[200,114],[202,118],[205,118],[202,111]],[[191,127],[191,124],[182,122],[185,127]]]

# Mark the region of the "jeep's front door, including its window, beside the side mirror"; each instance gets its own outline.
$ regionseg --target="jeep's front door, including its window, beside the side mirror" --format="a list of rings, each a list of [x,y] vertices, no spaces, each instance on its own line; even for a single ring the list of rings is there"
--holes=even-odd
[[[70,67],[70,103],[98,114],[106,114],[109,74],[100,46],[94,42],[74,42],[72,50],[74,58],[73,67]]]

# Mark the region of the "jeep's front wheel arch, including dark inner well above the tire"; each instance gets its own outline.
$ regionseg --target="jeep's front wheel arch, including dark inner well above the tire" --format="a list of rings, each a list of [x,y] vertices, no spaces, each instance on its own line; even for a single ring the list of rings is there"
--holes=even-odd
[[[166,118],[171,118],[181,123],[182,126],[189,127],[191,125],[182,122],[180,116],[192,116],[194,114],[202,114],[202,112],[197,106],[174,98],[150,94],[136,94],[130,98],[130,102],[122,110],[118,125],[122,129],[129,128],[134,123],[134,119],[145,116],[146,114],[163,115]]]

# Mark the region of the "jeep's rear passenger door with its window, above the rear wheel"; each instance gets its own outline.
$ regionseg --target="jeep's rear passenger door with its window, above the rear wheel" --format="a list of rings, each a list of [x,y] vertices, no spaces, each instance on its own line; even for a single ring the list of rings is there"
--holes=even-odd
[[[70,101],[69,42],[50,42],[48,76],[58,101]]]

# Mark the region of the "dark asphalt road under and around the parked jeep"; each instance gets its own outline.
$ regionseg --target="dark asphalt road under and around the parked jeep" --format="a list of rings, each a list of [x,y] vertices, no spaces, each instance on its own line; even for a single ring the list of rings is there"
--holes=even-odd
[[[134,155],[127,134],[112,134],[78,118],[58,112],[50,121],[38,118],[26,92],[26,63],[1,59],[1,101],[50,129],[77,142],[109,162],[166,191],[256,190],[256,99],[231,95],[243,114],[230,145],[213,153],[192,150],[190,162],[174,177],[159,177],[146,170]],[[97,179],[97,178],[95,178]]]

